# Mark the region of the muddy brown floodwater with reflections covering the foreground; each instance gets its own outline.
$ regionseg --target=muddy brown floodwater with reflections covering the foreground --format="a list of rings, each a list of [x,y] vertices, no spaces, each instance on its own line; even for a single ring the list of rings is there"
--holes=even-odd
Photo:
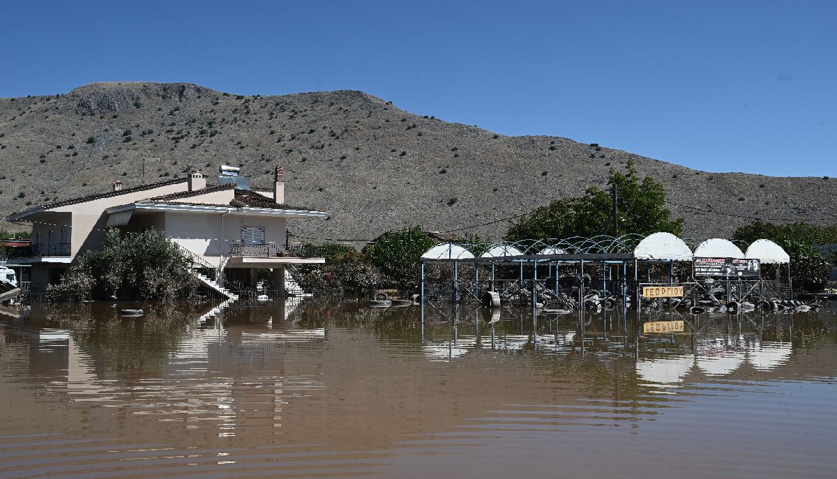
[[[0,313],[0,478],[837,476],[833,305],[136,306]]]

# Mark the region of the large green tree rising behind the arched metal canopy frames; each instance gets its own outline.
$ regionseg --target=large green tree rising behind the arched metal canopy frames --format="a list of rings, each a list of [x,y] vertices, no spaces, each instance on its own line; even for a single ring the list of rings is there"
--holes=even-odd
[[[659,231],[680,235],[683,219],[671,219],[665,208],[665,188],[654,178],[641,180],[631,159],[628,172],[610,168],[608,184],[615,184],[619,211],[618,234],[648,235]],[[511,224],[506,240],[592,237],[609,234],[613,199],[610,192],[595,186],[583,198],[557,199]]]

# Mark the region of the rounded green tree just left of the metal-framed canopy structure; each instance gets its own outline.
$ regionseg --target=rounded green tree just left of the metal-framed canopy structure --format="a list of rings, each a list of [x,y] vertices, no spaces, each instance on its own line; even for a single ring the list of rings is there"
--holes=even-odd
[[[388,231],[363,249],[363,255],[404,290],[419,284],[419,260],[433,240],[420,226]]]

